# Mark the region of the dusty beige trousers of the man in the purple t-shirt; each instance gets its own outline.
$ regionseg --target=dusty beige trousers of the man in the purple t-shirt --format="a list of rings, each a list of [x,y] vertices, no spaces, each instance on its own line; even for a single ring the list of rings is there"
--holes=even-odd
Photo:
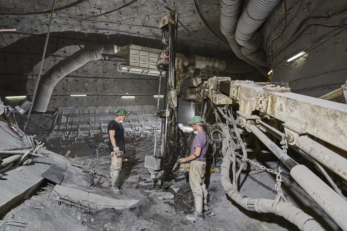
[[[205,185],[206,162],[192,161],[189,171],[189,184],[191,185],[194,196],[207,197]]]

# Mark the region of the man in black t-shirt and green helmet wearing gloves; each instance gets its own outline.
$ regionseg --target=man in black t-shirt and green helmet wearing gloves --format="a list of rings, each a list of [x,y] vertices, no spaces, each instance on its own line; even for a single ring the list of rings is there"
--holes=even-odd
[[[122,157],[125,151],[124,127],[121,124],[127,117],[128,112],[125,109],[118,109],[117,116],[111,120],[107,126],[109,134],[109,147],[111,152],[111,190],[116,194],[122,194],[122,188],[119,186],[119,171],[122,167]]]

